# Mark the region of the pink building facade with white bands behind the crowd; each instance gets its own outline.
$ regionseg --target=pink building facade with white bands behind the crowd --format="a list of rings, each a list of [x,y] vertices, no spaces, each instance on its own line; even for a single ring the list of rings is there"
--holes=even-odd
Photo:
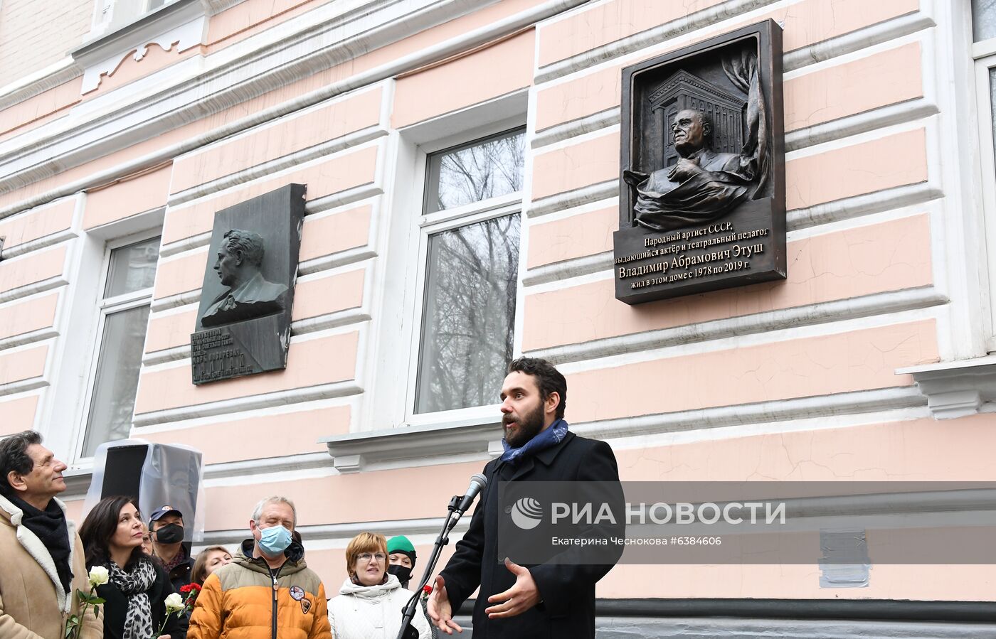
[[[571,428],[623,480],[996,474],[981,0],[38,4],[0,4],[0,436],[45,435],[77,515],[101,443],[193,446],[205,543],[234,547],[286,495],[335,591],[357,532],[428,555],[501,450],[495,362],[519,354],[558,364]],[[766,19],[788,279],[618,302],[622,68]],[[447,182],[480,153],[502,180]],[[307,204],[288,366],[195,386],[214,213],[289,183]],[[988,564],[872,560],[855,587],[816,565],[620,565],[599,597],[606,636],[996,636],[959,625],[992,621]],[[785,599],[802,612],[759,602]]]

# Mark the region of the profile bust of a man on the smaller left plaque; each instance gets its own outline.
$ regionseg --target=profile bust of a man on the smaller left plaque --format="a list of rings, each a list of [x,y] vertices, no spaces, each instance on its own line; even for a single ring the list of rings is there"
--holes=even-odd
[[[201,325],[217,326],[283,311],[287,287],[267,282],[260,271],[262,266],[262,237],[241,229],[225,233],[214,270],[228,289],[211,302]]]

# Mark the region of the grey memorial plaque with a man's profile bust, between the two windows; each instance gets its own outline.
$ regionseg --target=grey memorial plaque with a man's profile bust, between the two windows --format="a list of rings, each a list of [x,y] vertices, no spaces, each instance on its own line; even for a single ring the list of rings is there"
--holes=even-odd
[[[195,332],[193,383],[287,367],[305,185],[214,215]]]

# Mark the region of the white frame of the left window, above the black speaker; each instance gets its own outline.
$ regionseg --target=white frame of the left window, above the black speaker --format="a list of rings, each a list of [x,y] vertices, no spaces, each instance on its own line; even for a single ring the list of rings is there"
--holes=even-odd
[[[80,420],[75,424],[73,428],[73,441],[71,443],[71,458],[72,464],[74,466],[89,466],[93,464],[94,458],[86,457],[83,454],[84,443],[87,441],[87,425],[90,421],[90,413],[93,409],[94,401],[94,386],[97,383],[97,372],[98,366],[100,365],[101,357],[101,345],[104,341],[104,330],[107,323],[108,316],[120,313],[123,311],[130,311],[131,309],[136,309],[142,306],[150,306],[152,304],[152,292],[154,290],[154,284],[146,289],[140,289],[132,293],[124,293],[122,295],[115,296],[113,298],[106,298],[105,292],[108,286],[108,277],[111,274],[111,254],[115,249],[120,249],[131,244],[136,244],[138,242],[143,242],[154,237],[160,237],[162,235],[162,229],[149,229],[146,231],[141,231],[126,237],[117,238],[112,241],[108,241],[104,248],[104,260],[101,265],[101,277],[99,280],[99,295],[98,303],[96,309],[96,319],[95,325],[96,330],[94,331],[93,343],[90,345],[90,359],[89,367],[87,369],[87,385],[86,391],[83,394],[83,405],[80,410]],[[158,270],[158,262],[156,262],[156,270]],[[144,348],[142,348],[144,351]],[[133,417],[133,410],[132,410]]]

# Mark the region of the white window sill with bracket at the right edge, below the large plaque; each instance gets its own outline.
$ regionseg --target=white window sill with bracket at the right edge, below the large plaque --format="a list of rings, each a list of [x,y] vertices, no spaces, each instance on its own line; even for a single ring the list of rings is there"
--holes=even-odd
[[[935,419],[975,415],[982,405],[996,402],[996,354],[898,368],[912,375]]]

